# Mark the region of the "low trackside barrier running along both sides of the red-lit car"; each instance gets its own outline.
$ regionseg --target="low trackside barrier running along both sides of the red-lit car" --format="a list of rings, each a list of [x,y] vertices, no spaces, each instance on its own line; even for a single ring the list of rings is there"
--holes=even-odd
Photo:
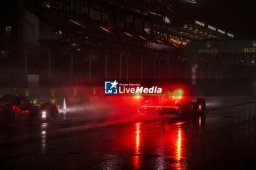
[[[0,94],[20,94],[39,105],[41,102],[52,101],[59,108],[63,107],[64,98],[67,107],[79,104],[89,104],[99,101],[108,101],[112,97],[104,96],[102,87],[68,87],[68,88],[1,88]],[[206,96],[206,108],[214,109],[234,104],[244,104],[256,101],[254,96]]]

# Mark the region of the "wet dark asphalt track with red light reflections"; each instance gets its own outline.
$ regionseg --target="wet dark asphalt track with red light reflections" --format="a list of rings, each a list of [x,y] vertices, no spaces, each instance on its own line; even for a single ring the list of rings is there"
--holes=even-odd
[[[0,131],[0,169],[252,169],[256,103],[206,116],[62,114]],[[92,116],[97,115],[97,116]]]

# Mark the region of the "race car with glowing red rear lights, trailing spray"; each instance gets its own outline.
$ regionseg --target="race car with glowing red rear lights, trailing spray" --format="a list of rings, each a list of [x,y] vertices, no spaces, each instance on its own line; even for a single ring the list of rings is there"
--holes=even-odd
[[[159,111],[164,114],[184,116],[195,112],[200,114],[206,112],[204,98],[195,98],[193,101],[192,97],[183,96],[183,93],[183,90],[177,89],[165,96],[139,96],[138,113]]]

